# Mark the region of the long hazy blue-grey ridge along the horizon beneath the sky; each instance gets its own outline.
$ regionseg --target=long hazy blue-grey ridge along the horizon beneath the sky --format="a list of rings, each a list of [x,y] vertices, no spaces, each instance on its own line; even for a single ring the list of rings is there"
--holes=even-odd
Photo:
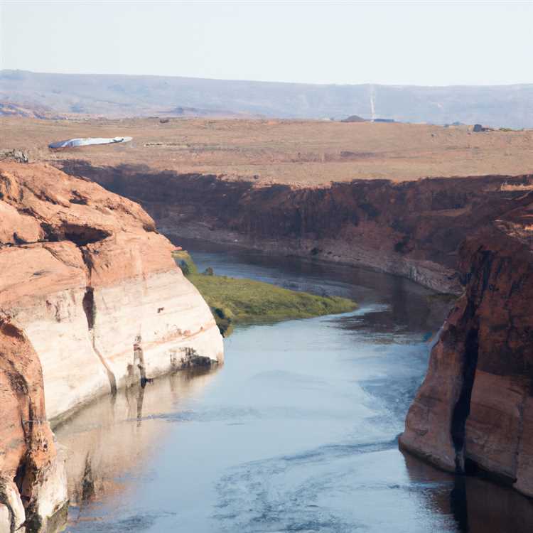
[[[311,85],[190,77],[45,74],[0,71],[0,101],[56,114],[146,117],[263,115],[280,118],[358,115],[397,122],[533,127],[533,84],[419,87]]]

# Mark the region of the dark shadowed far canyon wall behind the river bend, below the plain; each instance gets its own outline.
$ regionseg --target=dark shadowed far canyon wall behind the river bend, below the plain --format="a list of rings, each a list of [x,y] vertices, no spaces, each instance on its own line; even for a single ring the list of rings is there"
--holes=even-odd
[[[165,235],[370,267],[456,294],[461,242],[533,187],[533,176],[256,187],[220,176],[58,164],[139,201]]]

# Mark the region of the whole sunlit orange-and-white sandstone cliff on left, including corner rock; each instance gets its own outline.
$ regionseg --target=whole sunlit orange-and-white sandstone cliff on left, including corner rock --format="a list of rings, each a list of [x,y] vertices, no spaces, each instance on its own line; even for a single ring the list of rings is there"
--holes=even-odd
[[[0,524],[31,518],[42,529],[66,500],[47,417],[222,362],[222,338],[139,205],[50,166],[2,163],[0,215],[0,394],[9,415],[0,435],[10,443],[0,455]]]

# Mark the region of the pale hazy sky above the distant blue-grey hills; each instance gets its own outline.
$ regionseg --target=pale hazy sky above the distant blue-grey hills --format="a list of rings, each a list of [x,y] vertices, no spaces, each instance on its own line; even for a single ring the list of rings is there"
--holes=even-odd
[[[533,82],[533,0],[1,1],[0,17],[0,68],[339,84]]]

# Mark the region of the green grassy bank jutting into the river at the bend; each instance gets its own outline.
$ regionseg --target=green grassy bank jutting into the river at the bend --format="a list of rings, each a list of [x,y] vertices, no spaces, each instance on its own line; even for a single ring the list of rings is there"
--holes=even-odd
[[[254,281],[198,272],[188,252],[173,252],[176,263],[208,302],[220,333],[227,336],[236,324],[278,322],[290,318],[346,313],[357,308],[339,296],[315,296]]]

